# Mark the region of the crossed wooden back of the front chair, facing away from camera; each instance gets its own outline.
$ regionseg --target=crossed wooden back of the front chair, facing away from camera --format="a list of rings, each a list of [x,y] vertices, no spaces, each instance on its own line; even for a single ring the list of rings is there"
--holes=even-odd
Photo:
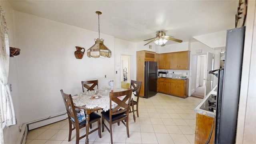
[[[119,98],[122,96],[122,100]],[[124,90],[120,92],[110,92],[110,107],[112,106],[112,102],[115,102],[117,106],[110,110],[110,117],[111,115],[120,114],[122,112],[129,113],[129,106],[131,103],[132,98],[132,89]]]

